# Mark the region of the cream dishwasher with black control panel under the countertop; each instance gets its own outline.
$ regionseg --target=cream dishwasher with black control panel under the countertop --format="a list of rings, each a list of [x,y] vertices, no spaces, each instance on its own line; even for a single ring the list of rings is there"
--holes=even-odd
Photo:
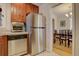
[[[20,56],[27,53],[27,35],[8,35],[8,55]]]

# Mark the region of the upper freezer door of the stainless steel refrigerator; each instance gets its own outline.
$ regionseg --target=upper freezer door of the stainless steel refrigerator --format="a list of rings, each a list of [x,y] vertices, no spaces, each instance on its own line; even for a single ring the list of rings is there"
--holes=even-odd
[[[40,14],[34,14],[32,20],[32,27],[45,27],[45,17]]]

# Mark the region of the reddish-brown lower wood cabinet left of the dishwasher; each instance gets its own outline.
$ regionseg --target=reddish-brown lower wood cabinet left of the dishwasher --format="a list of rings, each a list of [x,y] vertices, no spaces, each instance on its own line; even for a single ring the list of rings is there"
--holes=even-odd
[[[7,36],[0,36],[0,56],[8,55],[8,41]]]

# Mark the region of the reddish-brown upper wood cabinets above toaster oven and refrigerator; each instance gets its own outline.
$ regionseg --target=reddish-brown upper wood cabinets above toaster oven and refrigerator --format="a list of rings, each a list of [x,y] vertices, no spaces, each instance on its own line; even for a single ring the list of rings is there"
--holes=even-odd
[[[29,13],[38,13],[39,7],[31,3],[12,3],[11,20],[12,22],[25,22]]]

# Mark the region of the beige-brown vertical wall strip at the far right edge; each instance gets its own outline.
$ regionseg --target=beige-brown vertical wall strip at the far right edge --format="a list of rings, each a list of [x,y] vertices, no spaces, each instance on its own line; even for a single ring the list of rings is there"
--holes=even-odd
[[[73,55],[79,56],[79,4],[73,4]]]

